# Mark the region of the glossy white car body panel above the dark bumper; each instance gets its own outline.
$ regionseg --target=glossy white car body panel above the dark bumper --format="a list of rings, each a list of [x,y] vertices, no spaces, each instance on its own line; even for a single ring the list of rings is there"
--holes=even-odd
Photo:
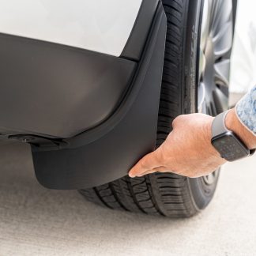
[[[0,0],[0,32],[119,56],[142,0]]]

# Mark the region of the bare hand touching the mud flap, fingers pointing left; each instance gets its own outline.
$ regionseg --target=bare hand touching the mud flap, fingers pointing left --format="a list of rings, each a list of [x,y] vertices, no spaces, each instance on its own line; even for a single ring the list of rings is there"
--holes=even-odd
[[[166,141],[144,156],[130,170],[130,177],[160,171],[196,178],[215,171],[226,160],[211,144],[212,122],[209,115],[180,115],[172,122],[173,130]]]

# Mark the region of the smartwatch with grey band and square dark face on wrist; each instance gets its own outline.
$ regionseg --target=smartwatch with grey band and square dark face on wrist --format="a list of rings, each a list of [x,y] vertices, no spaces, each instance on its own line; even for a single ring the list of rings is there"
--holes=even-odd
[[[212,124],[212,145],[220,156],[229,162],[254,154],[243,141],[225,125],[228,111],[217,115]]]

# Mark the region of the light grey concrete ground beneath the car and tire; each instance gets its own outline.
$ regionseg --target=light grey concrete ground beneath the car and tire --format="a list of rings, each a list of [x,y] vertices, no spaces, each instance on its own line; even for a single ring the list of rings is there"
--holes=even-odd
[[[256,255],[256,157],[228,164],[192,219],[111,211],[47,190],[26,145],[0,146],[0,255]]]

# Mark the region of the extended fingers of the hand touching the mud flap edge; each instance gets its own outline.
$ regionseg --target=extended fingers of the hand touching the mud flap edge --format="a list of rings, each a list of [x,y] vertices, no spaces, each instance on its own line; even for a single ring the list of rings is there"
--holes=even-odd
[[[161,165],[161,154],[159,148],[139,160],[138,163],[135,164],[134,168],[129,171],[129,175],[131,178],[137,175],[143,175],[143,173],[145,173],[146,171],[152,171],[153,169],[158,168]]]

